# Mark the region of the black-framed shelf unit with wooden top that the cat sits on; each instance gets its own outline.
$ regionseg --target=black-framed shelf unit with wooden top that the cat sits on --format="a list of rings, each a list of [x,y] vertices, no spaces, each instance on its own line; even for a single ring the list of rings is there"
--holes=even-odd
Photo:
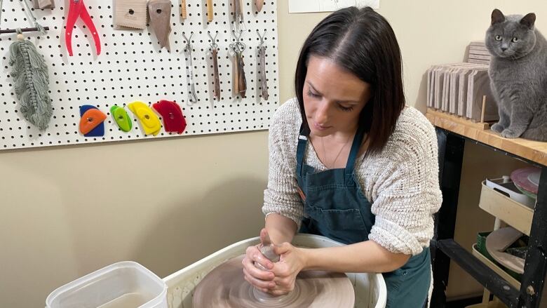
[[[446,135],[445,152],[441,159],[443,174],[440,179],[443,206],[438,213],[437,239],[432,245],[434,285],[431,307],[445,307],[450,260],[471,274],[508,307],[547,307],[547,297],[542,297],[547,288],[547,142],[502,138],[492,130],[484,130],[472,124],[466,125],[464,121],[454,121],[450,116],[439,116],[438,112],[429,112],[427,117]],[[522,274],[520,289],[515,288],[454,241],[461,166],[464,163],[466,142],[483,145],[541,168],[525,272]]]

